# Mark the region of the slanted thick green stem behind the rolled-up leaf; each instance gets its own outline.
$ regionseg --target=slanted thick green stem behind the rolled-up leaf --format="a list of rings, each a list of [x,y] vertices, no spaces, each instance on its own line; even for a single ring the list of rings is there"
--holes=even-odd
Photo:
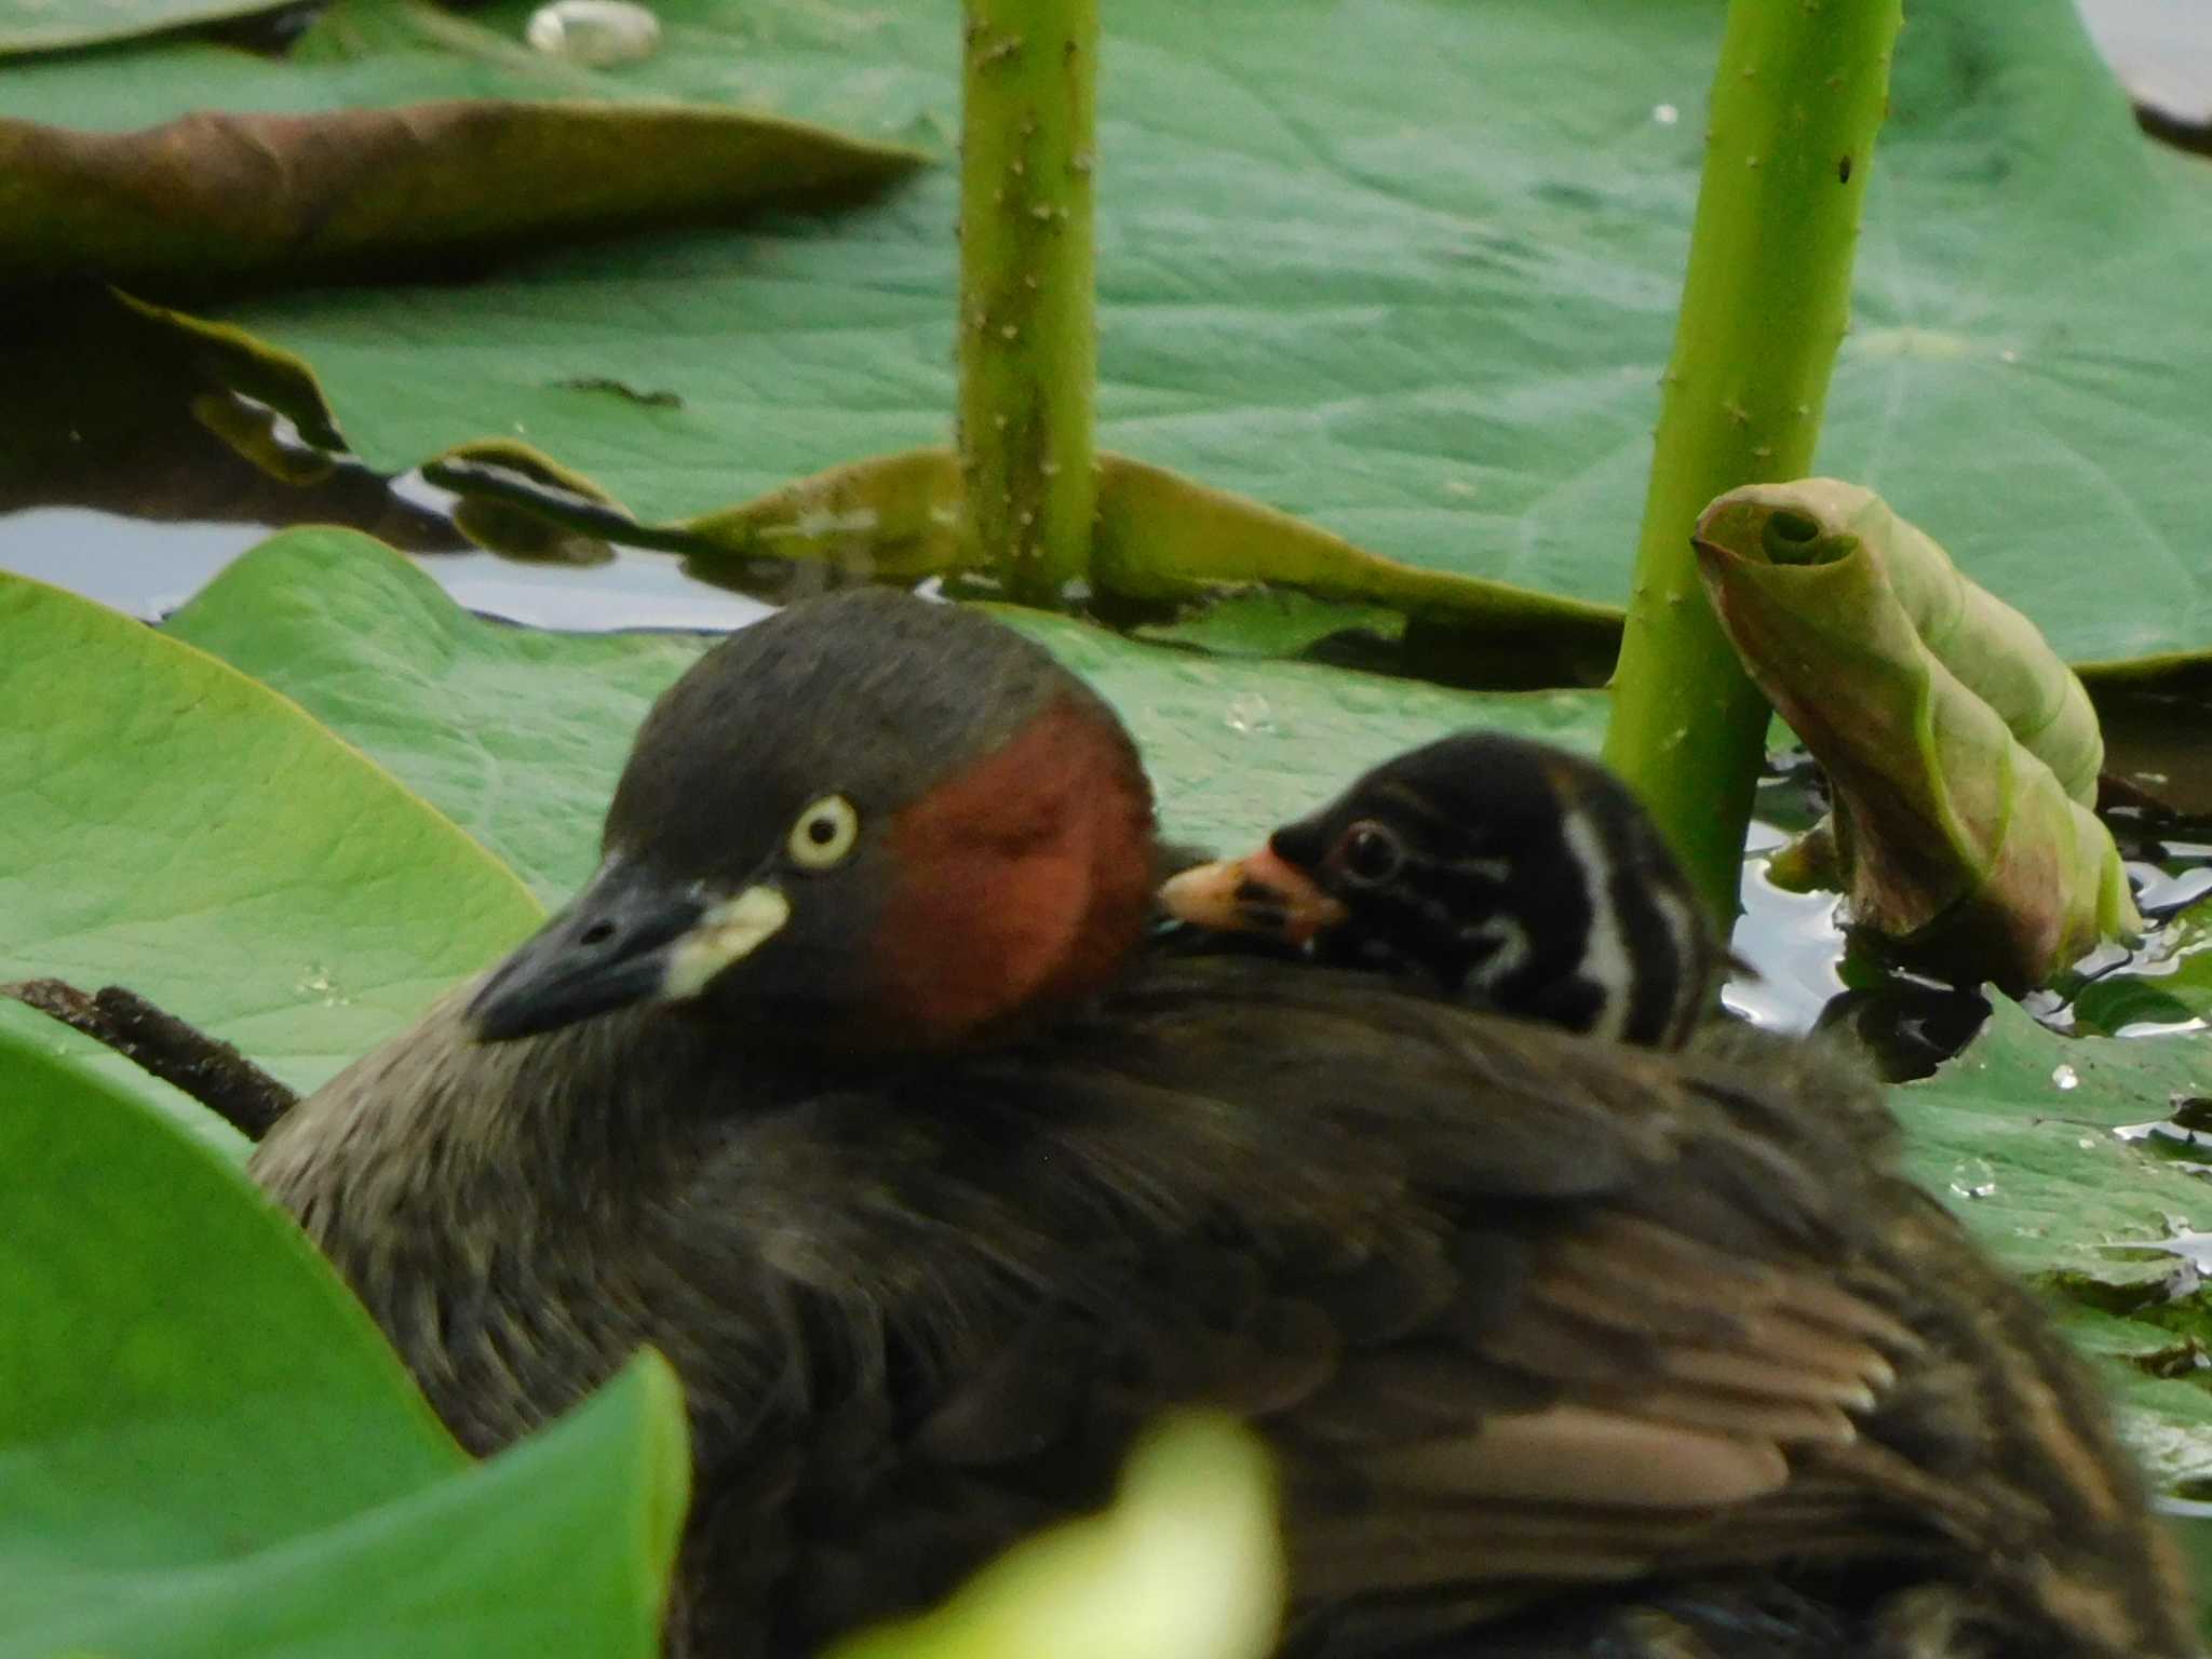
[[[1714,495],[1812,471],[1898,0],[1730,0],[1606,759],[1736,914],[1767,706],[1712,619],[1690,531]]]

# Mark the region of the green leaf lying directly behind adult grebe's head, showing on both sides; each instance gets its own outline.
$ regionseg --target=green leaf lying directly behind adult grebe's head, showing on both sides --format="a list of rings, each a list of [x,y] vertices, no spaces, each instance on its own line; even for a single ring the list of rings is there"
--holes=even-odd
[[[1203,845],[1250,841],[1358,770],[1449,730],[1498,726],[1593,750],[1604,728],[1599,692],[1458,692],[1318,664],[1219,659],[1040,611],[1000,615],[1121,710],[1168,832]],[[515,858],[542,894],[564,894],[591,869],[637,721],[703,644],[482,622],[352,531],[272,538],[168,626],[296,697]],[[73,880],[100,889],[108,876],[86,865]],[[456,971],[504,942],[480,942]],[[453,956],[465,953],[440,960]],[[117,978],[113,967],[80,973]]]

